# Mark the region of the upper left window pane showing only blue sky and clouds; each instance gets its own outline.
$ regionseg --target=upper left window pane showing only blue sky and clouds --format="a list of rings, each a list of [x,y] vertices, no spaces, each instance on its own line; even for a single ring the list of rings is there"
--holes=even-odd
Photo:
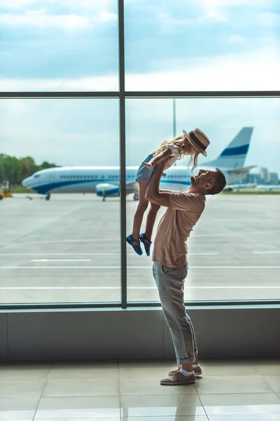
[[[0,91],[118,91],[117,0],[0,1]]]

